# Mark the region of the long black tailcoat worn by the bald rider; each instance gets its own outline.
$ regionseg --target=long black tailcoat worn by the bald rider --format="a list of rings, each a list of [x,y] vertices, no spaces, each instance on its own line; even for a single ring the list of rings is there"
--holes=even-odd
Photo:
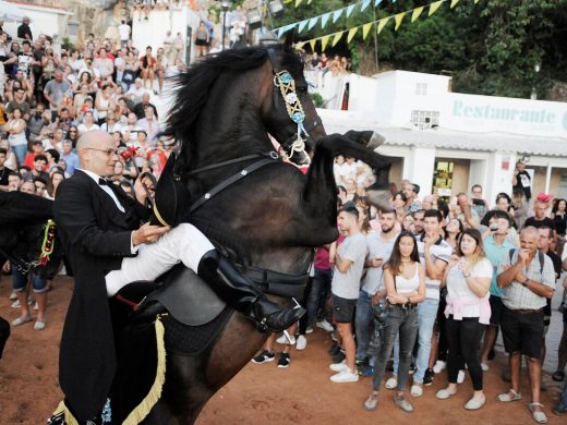
[[[67,405],[80,421],[101,412],[116,372],[105,276],[119,269],[123,257],[132,256],[132,230],[150,214],[120,187],[112,190],[125,212],[91,177],[77,170],[61,182],[53,205],[75,277],[61,338],[59,381]]]

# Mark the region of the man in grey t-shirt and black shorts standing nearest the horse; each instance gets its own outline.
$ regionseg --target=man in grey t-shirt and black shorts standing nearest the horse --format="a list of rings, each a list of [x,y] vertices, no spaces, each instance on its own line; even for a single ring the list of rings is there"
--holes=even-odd
[[[339,230],[347,238],[338,250],[334,250],[334,246],[330,250],[329,258],[331,263],[335,263],[330,284],[331,306],[333,318],[337,324],[337,331],[347,359],[345,363],[330,365],[333,371],[338,372],[330,377],[330,380],[334,382],[355,382],[359,380],[359,375],[354,365],[355,344],[352,337],[352,319],[359,298],[364,259],[366,258],[366,239],[360,232],[357,208],[342,208],[337,217],[337,223]]]

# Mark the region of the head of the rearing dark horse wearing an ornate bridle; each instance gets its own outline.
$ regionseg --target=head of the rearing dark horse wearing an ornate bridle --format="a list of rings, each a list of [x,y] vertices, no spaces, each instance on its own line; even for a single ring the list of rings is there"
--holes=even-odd
[[[262,122],[291,160],[309,161],[307,153],[325,129],[309,95],[304,63],[289,37],[282,45],[268,47],[268,59],[273,78],[263,100]]]

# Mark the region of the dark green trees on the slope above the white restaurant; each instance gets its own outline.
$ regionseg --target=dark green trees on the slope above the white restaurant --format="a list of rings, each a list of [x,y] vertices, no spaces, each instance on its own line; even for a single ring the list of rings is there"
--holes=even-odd
[[[313,0],[299,8],[288,3],[285,16],[274,24],[299,22],[353,2]],[[295,39],[321,37],[429,3],[431,0],[384,0],[378,8],[355,11],[336,24],[329,20],[325,29],[317,23],[311,32],[295,34]],[[535,90],[542,98],[552,80],[567,81],[567,0],[481,0],[476,4],[461,0],[454,9],[447,1],[433,16],[427,12],[425,8],[414,23],[410,23],[411,13],[407,14],[397,32],[394,20],[388,22],[377,35],[381,64],[448,72],[454,76],[454,90],[482,95],[529,97]],[[350,54],[358,69],[359,60],[374,56],[374,34],[371,32],[363,41],[359,31],[349,45],[345,35],[339,45],[327,48],[327,53]]]

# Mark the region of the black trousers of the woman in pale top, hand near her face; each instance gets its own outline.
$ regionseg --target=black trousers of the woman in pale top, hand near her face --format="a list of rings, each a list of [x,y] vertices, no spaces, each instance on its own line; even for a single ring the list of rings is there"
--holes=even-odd
[[[485,325],[479,323],[478,317],[463,317],[455,320],[453,315],[446,323],[447,345],[447,372],[449,384],[457,384],[457,376],[462,362],[467,363],[472,387],[475,391],[482,390],[482,367],[479,357],[481,338]]]

